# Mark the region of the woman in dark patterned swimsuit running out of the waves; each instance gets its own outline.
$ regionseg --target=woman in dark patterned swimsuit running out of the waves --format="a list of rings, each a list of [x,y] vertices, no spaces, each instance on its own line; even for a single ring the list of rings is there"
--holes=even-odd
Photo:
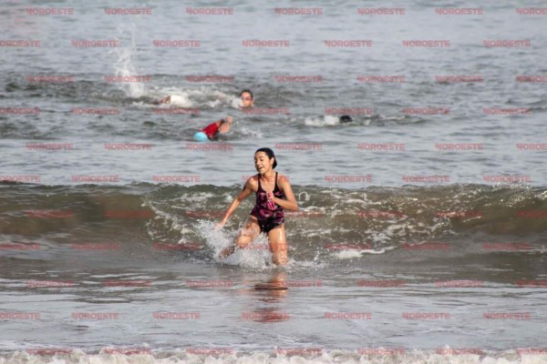
[[[258,174],[247,179],[243,191],[233,199],[217,228],[224,227],[243,199],[253,192],[256,193],[256,204],[235,238],[234,245],[222,250],[220,258],[232,255],[236,248],[245,248],[260,233],[264,233],[268,236],[272,262],[276,266],[283,266],[287,262],[284,208],[298,211],[298,204],[287,178],[274,172],[277,166],[275,159],[274,151],[267,147],[260,148],[254,153],[254,167]]]

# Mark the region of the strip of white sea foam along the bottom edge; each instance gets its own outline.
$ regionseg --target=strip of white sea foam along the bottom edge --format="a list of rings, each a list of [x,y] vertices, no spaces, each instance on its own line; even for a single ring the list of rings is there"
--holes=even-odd
[[[458,364],[516,364],[545,363],[547,354],[526,349],[491,351],[486,349],[322,349],[276,348],[272,350],[244,350],[233,348],[191,348],[173,351],[157,351],[148,348],[116,349],[103,348],[98,353],[87,353],[81,349],[26,349],[5,352],[0,355],[0,364],[25,362],[28,364],[76,364],[76,363],[227,363],[227,364],[406,364],[406,363],[458,363]],[[52,355],[53,354],[53,355]]]

